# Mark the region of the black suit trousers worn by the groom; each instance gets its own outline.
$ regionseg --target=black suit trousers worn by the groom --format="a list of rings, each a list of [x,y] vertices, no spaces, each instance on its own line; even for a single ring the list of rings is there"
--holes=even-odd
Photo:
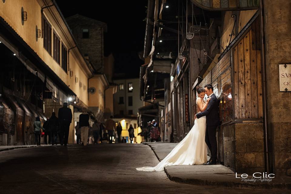
[[[205,142],[211,152],[211,160],[217,159],[217,142],[216,142],[217,126],[206,126]]]

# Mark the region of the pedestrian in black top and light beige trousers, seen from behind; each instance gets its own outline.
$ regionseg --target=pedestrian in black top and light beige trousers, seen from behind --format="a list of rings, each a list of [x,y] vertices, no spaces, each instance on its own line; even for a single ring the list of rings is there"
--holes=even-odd
[[[89,114],[85,107],[82,108],[82,114],[79,116],[79,127],[81,128],[81,145],[87,146],[89,134]]]

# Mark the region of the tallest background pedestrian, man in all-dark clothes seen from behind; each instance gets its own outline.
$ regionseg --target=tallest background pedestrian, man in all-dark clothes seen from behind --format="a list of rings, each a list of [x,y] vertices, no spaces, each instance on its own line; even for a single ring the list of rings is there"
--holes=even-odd
[[[60,129],[59,129],[59,138],[61,146],[67,146],[68,138],[69,138],[69,130],[70,124],[72,122],[72,110],[68,108],[68,103],[64,102],[63,107],[59,109],[59,121],[60,121]]]

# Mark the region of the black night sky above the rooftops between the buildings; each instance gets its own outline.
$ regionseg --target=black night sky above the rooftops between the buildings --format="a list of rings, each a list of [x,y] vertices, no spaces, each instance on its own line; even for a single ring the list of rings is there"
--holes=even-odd
[[[65,18],[79,14],[107,23],[104,54],[113,53],[115,73],[139,77],[144,62],[138,52],[143,51],[147,0],[133,1],[64,1],[56,0]]]

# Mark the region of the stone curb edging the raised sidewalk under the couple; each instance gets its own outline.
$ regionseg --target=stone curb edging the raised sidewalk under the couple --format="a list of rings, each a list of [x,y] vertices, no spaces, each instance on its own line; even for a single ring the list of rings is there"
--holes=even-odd
[[[148,145],[152,151],[155,153],[157,159],[161,161],[159,156],[157,155],[155,149],[149,144],[144,143],[144,145]],[[207,186],[219,186],[219,187],[236,187],[236,188],[256,188],[256,189],[291,189],[291,182],[290,183],[262,183],[262,184],[252,184],[249,182],[234,182],[234,181],[216,181],[216,180],[206,180],[206,179],[183,179],[177,176],[171,176],[167,171],[166,167],[164,167],[164,171],[168,178],[171,181],[179,182],[179,183],[186,183],[186,184],[193,184],[193,185],[207,185]]]

